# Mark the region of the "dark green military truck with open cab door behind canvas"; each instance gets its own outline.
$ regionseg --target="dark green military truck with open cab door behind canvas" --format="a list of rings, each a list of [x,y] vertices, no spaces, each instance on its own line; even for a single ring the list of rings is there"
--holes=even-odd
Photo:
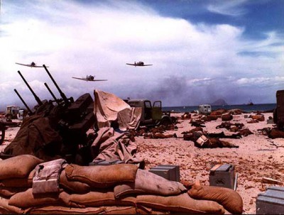
[[[141,107],[141,126],[167,126],[172,123],[170,113],[162,111],[162,101],[154,101],[152,105],[148,99],[128,99],[127,103],[132,107]]]

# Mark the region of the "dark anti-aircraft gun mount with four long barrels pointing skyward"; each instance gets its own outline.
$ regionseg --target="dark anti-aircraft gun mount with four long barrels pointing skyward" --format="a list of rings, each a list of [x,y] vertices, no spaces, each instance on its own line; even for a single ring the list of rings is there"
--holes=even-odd
[[[91,158],[89,157],[90,150],[88,150],[89,140],[87,131],[89,128],[92,128],[95,121],[93,114],[93,99],[89,93],[82,94],[82,96],[75,101],[72,97],[67,98],[60,87],[58,87],[58,84],[55,82],[55,79],[53,79],[53,76],[50,75],[50,72],[45,65],[43,65],[43,67],[53,81],[53,84],[55,84],[55,87],[58,89],[61,97],[60,99],[55,97],[55,94],[53,94],[46,83],[45,87],[48,89],[48,92],[50,92],[54,100],[48,101],[46,99],[39,99],[28,82],[26,82],[26,79],[21,75],[20,71],[18,71],[18,74],[21,76],[28,89],[30,89],[38,104],[35,105],[33,109],[30,109],[16,89],[14,89],[14,91],[28,109],[29,116],[40,115],[49,118],[50,126],[57,131],[62,138],[60,155],[63,158],[70,162],[75,162],[75,158],[78,160],[79,155],[79,160],[82,162],[81,164],[88,163]],[[49,150],[53,149],[50,148]],[[82,155],[82,152],[88,152],[88,155]]]

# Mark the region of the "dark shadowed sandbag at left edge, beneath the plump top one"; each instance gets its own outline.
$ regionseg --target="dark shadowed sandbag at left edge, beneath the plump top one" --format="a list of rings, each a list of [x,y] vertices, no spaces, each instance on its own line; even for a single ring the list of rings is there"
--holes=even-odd
[[[28,175],[28,177],[0,180],[0,187],[32,187],[34,175],[35,170],[33,169]]]

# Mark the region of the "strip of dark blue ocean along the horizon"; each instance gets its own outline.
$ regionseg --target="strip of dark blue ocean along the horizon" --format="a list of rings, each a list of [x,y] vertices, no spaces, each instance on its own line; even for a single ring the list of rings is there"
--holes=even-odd
[[[276,104],[232,104],[232,105],[224,105],[224,106],[212,106],[212,111],[217,109],[241,109],[248,113],[253,111],[273,111],[275,109]],[[165,106],[163,107],[163,111],[171,111],[171,112],[191,112],[198,110],[198,106]]]

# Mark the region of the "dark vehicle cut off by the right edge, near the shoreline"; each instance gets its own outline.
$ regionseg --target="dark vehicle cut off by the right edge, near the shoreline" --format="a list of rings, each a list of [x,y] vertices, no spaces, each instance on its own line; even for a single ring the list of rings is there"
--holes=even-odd
[[[284,127],[284,90],[276,92],[276,108],[273,111],[273,121],[279,130]]]

